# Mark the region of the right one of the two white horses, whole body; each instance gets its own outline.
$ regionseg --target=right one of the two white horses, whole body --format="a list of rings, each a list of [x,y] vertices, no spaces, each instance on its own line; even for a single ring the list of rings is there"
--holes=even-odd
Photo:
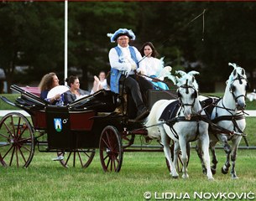
[[[222,167],[222,173],[228,173],[230,159],[232,161],[231,176],[238,178],[235,171],[235,162],[237,158],[238,145],[243,137],[243,131],[246,126],[243,110],[245,109],[245,95],[248,90],[248,80],[245,70],[237,64],[231,64],[234,70],[227,80],[227,86],[223,98],[217,102],[212,110],[211,120],[223,130],[212,129],[210,134],[210,148],[212,151],[212,173],[216,173],[217,156],[215,146],[217,142],[222,142],[227,154],[226,162]],[[228,132],[230,131],[230,132]],[[232,147],[228,144],[232,142]]]

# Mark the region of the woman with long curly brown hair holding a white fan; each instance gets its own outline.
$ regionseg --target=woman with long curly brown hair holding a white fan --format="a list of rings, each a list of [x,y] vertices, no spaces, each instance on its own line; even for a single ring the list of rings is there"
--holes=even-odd
[[[41,91],[40,98],[50,102],[50,104],[55,106],[63,106],[64,105],[64,95],[56,94],[52,98],[47,98],[49,91],[55,86],[59,85],[59,79],[57,75],[53,72],[44,75],[42,80],[39,83],[39,89]]]

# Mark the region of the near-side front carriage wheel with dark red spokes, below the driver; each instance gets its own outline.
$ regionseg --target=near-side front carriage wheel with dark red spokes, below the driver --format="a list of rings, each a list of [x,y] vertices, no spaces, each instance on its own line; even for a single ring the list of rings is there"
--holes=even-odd
[[[118,131],[113,126],[106,126],[100,137],[100,158],[104,172],[116,172],[121,169],[123,148]]]

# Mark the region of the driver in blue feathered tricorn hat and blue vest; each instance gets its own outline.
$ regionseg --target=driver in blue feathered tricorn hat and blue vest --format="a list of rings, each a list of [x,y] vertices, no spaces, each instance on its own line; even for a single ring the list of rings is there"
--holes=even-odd
[[[137,108],[135,120],[143,119],[149,115],[149,110],[144,104],[142,91],[146,93],[154,86],[143,77],[135,75],[139,61],[142,59],[138,49],[129,46],[129,40],[134,40],[135,35],[132,30],[119,28],[115,33],[108,33],[107,36],[111,38],[112,43],[118,43],[116,47],[110,49],[108,54],[111,65],[110,89],[119,93],[119,80],[120,78],[124,80],[124,85],[131,91]]]

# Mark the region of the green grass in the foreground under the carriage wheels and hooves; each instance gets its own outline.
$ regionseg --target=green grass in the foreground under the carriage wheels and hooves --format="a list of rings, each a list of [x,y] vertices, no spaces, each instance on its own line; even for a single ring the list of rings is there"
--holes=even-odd
[[[59,162],[51,161],[54,156],[36,152],[29,168],[0,168],[1,200],[145,200],[144,192],[188,193],[191,197],[194,192],[256,193],[253,150],[238,151],[237,180],[221,173],[225,157],[217,150],[214,181],[201,173],[195,150],[191,151],[188,179],[170,178],[163,152],[125,152],[120,173],[103,173],[98,153],[86,169],[61,168]]]

